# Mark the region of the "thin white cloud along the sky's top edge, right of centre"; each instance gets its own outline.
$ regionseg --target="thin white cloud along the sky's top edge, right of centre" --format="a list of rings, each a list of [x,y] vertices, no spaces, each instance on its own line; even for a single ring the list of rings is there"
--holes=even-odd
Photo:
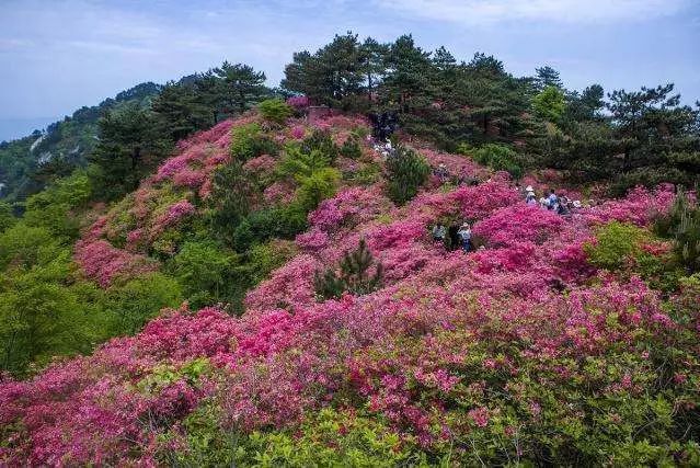
[[[689,0],[375,0],[412,16],[469,25],[503,21],[615,23],[682,10]]]

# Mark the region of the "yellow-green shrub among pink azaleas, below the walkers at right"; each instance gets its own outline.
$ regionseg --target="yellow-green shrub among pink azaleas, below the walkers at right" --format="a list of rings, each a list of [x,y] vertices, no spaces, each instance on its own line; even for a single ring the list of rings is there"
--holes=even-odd
[[[639,255],[640,243],[647,238],[649,233],[636,226],[612,221],[598,228],[596,242],[587,244],[585,250],[593,265],[613,271]]]

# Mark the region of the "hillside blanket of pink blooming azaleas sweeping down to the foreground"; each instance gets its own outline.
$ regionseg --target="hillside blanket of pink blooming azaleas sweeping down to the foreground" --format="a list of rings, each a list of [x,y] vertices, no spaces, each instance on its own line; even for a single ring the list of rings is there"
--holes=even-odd
[[[291,165],[294,146],[241,161],[256,185],[250,232],[255,213],[300,205],[313,174],[337,172],[301,232],[275,231],[289,241],[284,264],[245,294],[241,317],[183,305],[1,384],[0,464],[700,464],[700,279],[658,286],[669,248],[651,231],[669,187],[563,217],[527,206],[504,172],[420,149],[473,183],[431,176],[399,206],[363,119],[275,127],[251,114],[181,144],[89,228],[74,251],[84,275],[110,287],[179,255],[218,206],[214,174],[236,159],[237,128],[251,125],[276,148],[314,129],[345,148],[311,175]],[[436,222],[464,220],[478,249],[433,241]],[[611,266],[616,227],[642,240]],[[381,284],[322,300],[315,274],[363,240]]]

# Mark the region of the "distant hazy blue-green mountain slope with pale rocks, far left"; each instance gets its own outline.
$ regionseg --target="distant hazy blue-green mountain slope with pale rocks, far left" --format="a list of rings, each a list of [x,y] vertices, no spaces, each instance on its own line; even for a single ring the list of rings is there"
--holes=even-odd
[[[44,172],[60,174],[61,168],[70,172],[83,164],[96,141],[97,121],[106,111],[128,102],[149,105],[161,88],[153,82],[137,84],[97,105],[83,106],[71,116],[49,124],[45,130],[0,142],[0,197],[23,199],[44,186]],[[36,126],[43,125],[45,122],[37,122]],[[48,167],[50,171],[43,171]]]

